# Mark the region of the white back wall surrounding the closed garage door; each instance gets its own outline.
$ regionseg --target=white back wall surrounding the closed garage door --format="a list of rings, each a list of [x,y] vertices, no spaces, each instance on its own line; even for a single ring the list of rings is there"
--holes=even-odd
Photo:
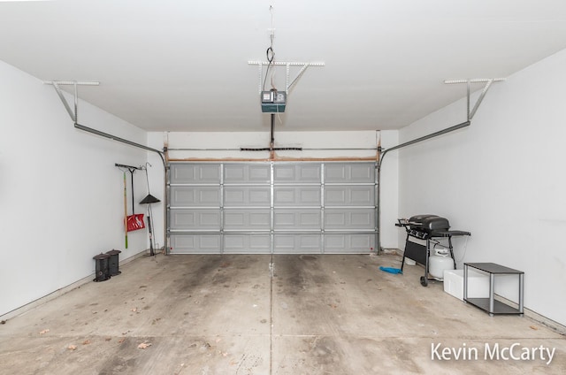
[[[279,157],[375,157],[375,150],[306,150],[306,149],[346,149],[346,148],[375,148],[379,138],[383,147],[397,144],[397,131],[381,132],[275,132],[275,147],[302,147],[303,151],[278,151]],[[240,149],[269,147],[270,131],[265,132],[217,132],[217,133],[149,133],[150,147],[162,149],[167,144],[170,149]],[[268,158],[267,151],[241,152],[236,151],[174,151],[170,158]],[[149,155],[149,163],[154,167],[151,173],[151,192],[155,191],[157,198],[163,195],[163,167],[157,154]],[[382,167],[382,210],[381,218],[384,223],[381,242],[384,248],[398,249],[397,231],[393,226],[397,218],[398,175],[397,156],[387,155],[387,161]],[[154,214],[163,212],[164,205],[154,205]],[[155,215],[157,228],[156,240],[163,245],[164,223],[162,218]],[[390,224],[390,225],[389,225]]]

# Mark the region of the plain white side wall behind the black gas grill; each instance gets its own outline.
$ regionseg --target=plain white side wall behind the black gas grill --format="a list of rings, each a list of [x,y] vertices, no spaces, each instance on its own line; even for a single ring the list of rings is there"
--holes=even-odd
[[[445,216],[459,262],[524,271],[525,307],[566,325],[566,50],[496,83],[471,126],[399,151],[400,215]],[[475,77],[472,77],[475,78]],[[465,87],[462,87],[465,95]],[[400,132],[402,142],[465,120],[460,101]],[[404,233],[399,231],[400,238]],[[505,279],[496,291],[516,299]]]

